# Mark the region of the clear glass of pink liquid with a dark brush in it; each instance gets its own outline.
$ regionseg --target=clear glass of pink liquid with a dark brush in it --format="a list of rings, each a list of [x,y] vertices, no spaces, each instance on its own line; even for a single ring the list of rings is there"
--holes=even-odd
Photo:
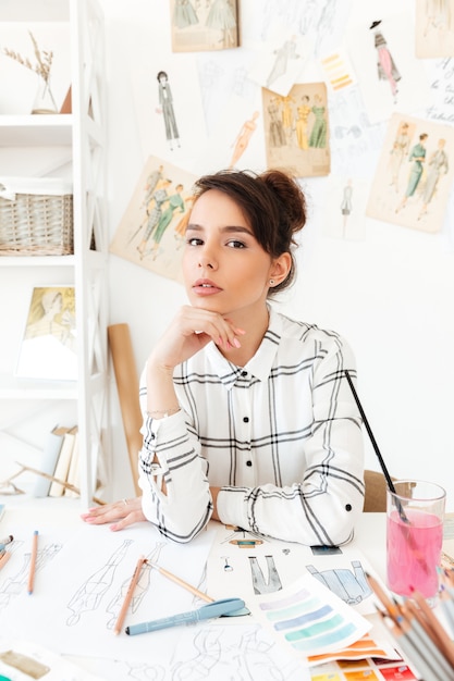
[[[400,480],[386,495],[386,581],[398,596],[418,591],[431,605],[439,587],[446,493],[421,480]]]

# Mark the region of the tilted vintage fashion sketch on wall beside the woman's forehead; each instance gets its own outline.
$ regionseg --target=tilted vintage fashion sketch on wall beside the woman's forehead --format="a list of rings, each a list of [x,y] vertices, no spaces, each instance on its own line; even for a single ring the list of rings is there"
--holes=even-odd
[[[120,221],[110,252],[181,281],[181,256],[196,176],[150,157]]]

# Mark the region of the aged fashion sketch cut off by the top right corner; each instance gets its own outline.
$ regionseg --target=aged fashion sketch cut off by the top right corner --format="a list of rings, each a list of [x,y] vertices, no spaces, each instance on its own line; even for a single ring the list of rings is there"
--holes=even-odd
[[[454,57],[454,0],[416,0],[416,57]]]

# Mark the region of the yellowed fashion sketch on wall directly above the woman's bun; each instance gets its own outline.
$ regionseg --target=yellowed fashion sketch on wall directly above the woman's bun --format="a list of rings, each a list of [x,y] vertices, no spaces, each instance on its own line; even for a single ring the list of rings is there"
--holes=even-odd
[[[262,88],[269,168],[285,168],[296,177],[328,175],[331,166],[327,86],[294,85],[281,96]]]

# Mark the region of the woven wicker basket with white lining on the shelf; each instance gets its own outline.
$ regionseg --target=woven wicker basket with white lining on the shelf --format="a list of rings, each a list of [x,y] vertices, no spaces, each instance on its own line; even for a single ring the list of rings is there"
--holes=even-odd
[[[0,256],[73,252],[71,185],[56,178],[0,177]]]

